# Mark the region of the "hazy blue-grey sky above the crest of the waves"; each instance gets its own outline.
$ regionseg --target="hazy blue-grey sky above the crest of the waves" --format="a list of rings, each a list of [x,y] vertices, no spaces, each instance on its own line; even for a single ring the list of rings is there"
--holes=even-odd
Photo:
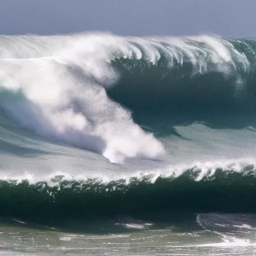
[[[0,34],[256,37],[256,0],[0,0]]]

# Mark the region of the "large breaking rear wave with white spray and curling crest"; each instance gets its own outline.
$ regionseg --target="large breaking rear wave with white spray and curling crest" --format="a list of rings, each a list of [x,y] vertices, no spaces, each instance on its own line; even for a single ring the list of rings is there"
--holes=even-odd
[[[132,114],[253,112],[254,48],[206,35],[1,36],[0,105],[33,132],[112,162],[160,159],[163,145]]]

